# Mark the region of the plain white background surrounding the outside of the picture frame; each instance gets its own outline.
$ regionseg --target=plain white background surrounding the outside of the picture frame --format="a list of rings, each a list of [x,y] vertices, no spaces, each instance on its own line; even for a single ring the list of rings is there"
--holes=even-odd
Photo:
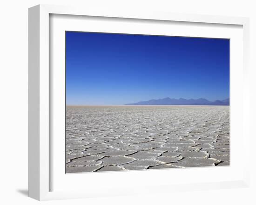
[[[250,18],[251,135],[256,120],[256,5],[254,0],[2,0],[0,2],[0,203],[39,204],[27,197],[28,7],[37,4],[125,7]],[[253,122],[254,121],[254,122]],[[256,173],[256,136],[251,136],[251,173]],[[241,150],[243,154],[243,150]],[[243,162],[242,162],[243,163]],[[256,177],[243,189],[177,192],[169,195],[47,201],[44,204],[256,204]]]

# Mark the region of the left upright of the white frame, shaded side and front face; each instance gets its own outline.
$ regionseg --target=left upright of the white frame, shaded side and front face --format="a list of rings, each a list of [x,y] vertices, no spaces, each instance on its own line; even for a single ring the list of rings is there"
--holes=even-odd
[[[28,196],[49,193],[49,13],[28,10]]]

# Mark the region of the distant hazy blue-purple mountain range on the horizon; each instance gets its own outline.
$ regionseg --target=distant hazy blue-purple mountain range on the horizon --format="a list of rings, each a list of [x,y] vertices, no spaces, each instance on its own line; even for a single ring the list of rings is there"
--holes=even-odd
[[[199,99],[175,99],[175,98],[163,98],[158,100],[148,100],[148,101],[141,101],[141,102],[135,102],[135,103],[129,103],[126,105],[229,105],[229,98],[225,100],[216,100],[214,102],[211,102],[209,100],[206,100],[204,98]]]

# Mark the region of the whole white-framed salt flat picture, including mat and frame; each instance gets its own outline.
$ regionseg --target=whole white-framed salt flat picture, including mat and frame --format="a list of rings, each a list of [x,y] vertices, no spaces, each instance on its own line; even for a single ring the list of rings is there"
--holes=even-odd
[[[248,186],[248,54],[247,18],[30,8],[29,196]]]

